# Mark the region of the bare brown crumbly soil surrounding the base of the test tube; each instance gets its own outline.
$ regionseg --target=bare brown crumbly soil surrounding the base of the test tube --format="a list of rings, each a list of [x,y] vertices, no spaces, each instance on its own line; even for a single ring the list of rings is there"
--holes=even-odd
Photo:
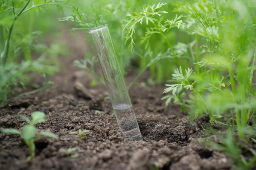
[[[143,141],[123,142],[111,102],[104,85],[90,87],[91,74],[76,68],[74,59],[86,54],[83,34],[72,38],[64,36],[72,56],[61,58],[61,71],[49,77],[54,85],[49,93],[11,98],[0,108],[0,128],[22,130],[26,124],[17,114],[30,118],[34,111],[46,113],[46,122],[38,130],[49,130],[59,139],[40,137],[35,141],[36,156],[26,162],[29,151],[17,135],[0,133],[0,170],[233,170],[233,162],[225,153],[212,150],[198,142],[204,138],[209,115],[189,122],[180,107],[161,101],[164,86],[134,85],[131,101],[143,135]],[[131,82],[134,73],[126,76]],[[148,74],[140,78],[145,82]],[[33,83],[42,79],[32,75]],[[77,88],[84,85],[87,92]],[[32,90],[28,88],[28,91]],[[92,98],[92,99],[90,99]],[[72,131],[90,130],[84,139],[70,135]],[[67,155],[67,149],[76,147],[77,158]]]

